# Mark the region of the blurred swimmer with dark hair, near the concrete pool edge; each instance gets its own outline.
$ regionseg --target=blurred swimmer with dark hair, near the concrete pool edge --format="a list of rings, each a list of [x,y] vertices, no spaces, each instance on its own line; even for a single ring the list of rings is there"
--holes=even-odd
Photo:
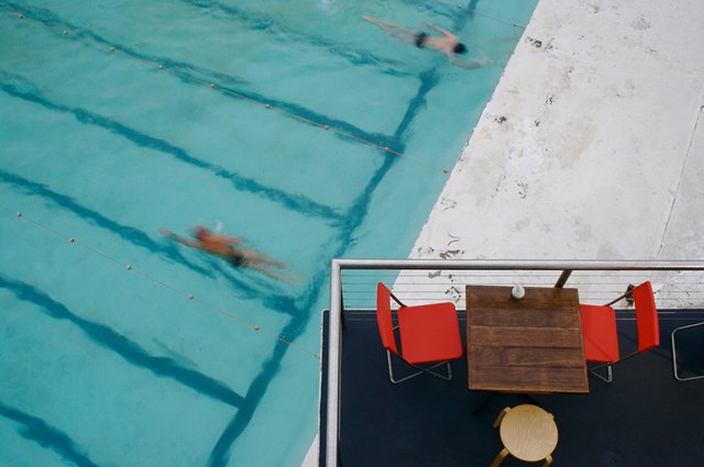
[[[381,27],[392,37],[396,37],[400,41],[414,44],[418,48],[427,48],[439,52],[440,54],[448,57],[450,62],[461,68],[474,69],[482,65],[488,65],[487,62],[460,60],[457,56],[460,54],[465,54],[468,52],[466,46],[460,42],[457,35],[452,34],[448,30],[436,26],[435,24],[424,22],[427,27],[440,33],[440,35],[431,35],[422,31],[413,31],[394,23],[380,21],[376,18],[367,16],[366,14],[363,14],[362,18],[365,21],[369,21],[370,23]]]

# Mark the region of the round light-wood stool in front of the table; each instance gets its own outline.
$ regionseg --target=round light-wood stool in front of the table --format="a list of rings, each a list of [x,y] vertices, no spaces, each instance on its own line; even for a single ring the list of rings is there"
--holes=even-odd
[[[558,445],[558,425],[552,414],[538,405],[517,405],[501,411],[494,427],[498,429],[504,448],[491,467],[497,467],[512,455],[520,460],[535,463],[544,459],[542,467],[552,464],[552,452]]]

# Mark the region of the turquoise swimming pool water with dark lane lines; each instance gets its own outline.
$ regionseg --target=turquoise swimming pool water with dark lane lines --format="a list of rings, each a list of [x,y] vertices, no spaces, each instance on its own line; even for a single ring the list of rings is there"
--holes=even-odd
[[[0,464],[298,465],[330,258],[408,255],[534,7],[0,0]]]

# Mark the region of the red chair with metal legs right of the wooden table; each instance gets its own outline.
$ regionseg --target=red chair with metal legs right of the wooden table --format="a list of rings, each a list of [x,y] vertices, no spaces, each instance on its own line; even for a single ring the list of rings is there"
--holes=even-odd
[[[636,307],[638,349],[622,357],[618,352],[616,313],[610,305],[626,297],[632,297]],[[587,362],[604,364],[592,367],[591,373],[606,382],[613,380],[612,366],[614,364],[660,345],[658,309],[649,281],[627,290],[626,293],[604,305],[582,304],[580,305],[580,315],[582,318],[584,357]],[[606,368],[606,376],[596,371],[601,368]]]

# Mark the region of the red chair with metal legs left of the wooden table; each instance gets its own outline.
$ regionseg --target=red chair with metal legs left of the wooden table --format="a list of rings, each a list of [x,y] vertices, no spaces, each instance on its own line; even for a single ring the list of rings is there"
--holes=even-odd
[[[397,312],[398,325],[394,326],[391,300],[400,307]],[[376,286],[376,323],[386,349],[388,377],[398,383],[422,373],[438,378],[452,379],[450,360],[462,357],[462,337],[458,313],[452,303],[433,303],[418,307],[406,307],[382,282]],[[400,348],[396,345],[395,330],[398,330]],[[392,354],[419,371],[402,379],[394,378]],[[426,366],[431,364],[431,366]],[[435,365],[432,365],[435,364]],[[433,371],[447,365],[447,375]]]

